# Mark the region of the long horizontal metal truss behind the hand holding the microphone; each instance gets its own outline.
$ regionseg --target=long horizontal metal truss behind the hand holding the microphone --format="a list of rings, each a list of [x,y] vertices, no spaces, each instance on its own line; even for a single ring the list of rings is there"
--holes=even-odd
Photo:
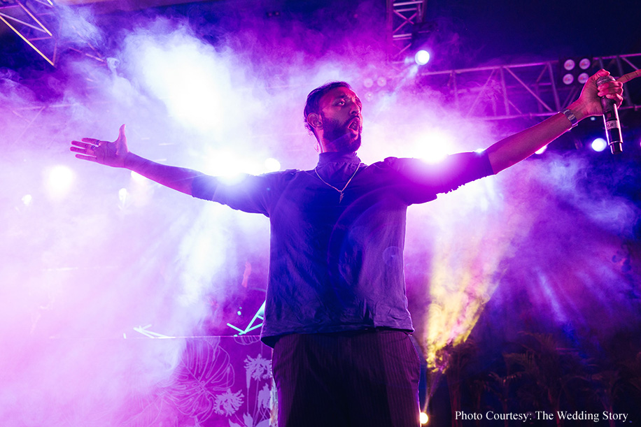
[[[613,75],[641,68],[641,53],[593,58],[593,66]],[[561,82],[559,61],[419,71],[422,85],[441,91],[465,117],[503,120],[547,117],[577,99],[582,85]],[[627,90],[620,110],[641,108]]]

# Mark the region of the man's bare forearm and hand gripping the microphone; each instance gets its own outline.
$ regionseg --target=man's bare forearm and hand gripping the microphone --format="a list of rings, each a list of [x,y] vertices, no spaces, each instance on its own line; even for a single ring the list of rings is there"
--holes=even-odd
[[[614,82],[605,82],[599,87],[596,86],[596,80],[603,75],[610,73],[600,70],[592,75],[585,83],[581,95],[577,101],[570,104],[568,109],[574,113],[577,120],[583,120],[593,115],[602,115],[600,96],[614,99],[617,106],[623,102],[623,84],[628,80],[638,77],[641,73],[633,71],[626,74]],[[551,143],[553,140],[568,131],[572,124],[568,117],[562,113],[549,117],[549,119],[536,124],[512,136],[498,141],[488,148],[488,157],[494,173],[498,173],[505,168],[509,168],[519,161],[530,157],[537,150]]]

